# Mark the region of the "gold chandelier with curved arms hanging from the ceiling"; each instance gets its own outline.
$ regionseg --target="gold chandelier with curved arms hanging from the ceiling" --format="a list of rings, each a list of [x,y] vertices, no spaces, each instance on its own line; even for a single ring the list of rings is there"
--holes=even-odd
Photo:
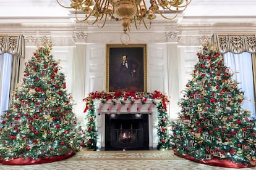
[[[151,20],[156,18],[156,14],[168,20],[176,18],[177,14],[185,10],[192,0],[149,0],[149,7],[147,7],[146,0],[70,0],[70,6],[62,5],[61,0],[56,1],[64,8],[75,9],[77,22],[85,22],[88,18],[93,18],[92,24],[96,23],[99,28],[103,28],[108,18],[121,20],[124,33],[127,34],[132,22],[135,23],[137,30],[141,23],[145,28],[151,28]],[[166,17],[164,12],[173,13],[174,16]],[[79,17],[81,13],[85,14],[83,19]],[[147,26],[145,19],[150,21],[150,26]],[[100,20],[103,20],[101,26],[98,25]]]

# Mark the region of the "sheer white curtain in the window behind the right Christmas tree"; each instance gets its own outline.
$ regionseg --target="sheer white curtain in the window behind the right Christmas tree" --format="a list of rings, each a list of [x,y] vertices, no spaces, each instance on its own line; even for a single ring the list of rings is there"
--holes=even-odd
[[[245,100],[242,108],[252,112],[250,117],[256,118],[254,104],[254,78],[252,71],[252,55],[249,52],[223,54],[224,63],[234,72],[233,78],[239,83],[238,86],[244,91]],[[237,72],[237,73],[236,73]]]

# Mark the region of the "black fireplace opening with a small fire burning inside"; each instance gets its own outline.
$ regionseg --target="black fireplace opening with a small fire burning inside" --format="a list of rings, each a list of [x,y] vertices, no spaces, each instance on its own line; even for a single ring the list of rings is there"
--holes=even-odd
[[[148,114],[109,114],[105,150],[149,150]]]

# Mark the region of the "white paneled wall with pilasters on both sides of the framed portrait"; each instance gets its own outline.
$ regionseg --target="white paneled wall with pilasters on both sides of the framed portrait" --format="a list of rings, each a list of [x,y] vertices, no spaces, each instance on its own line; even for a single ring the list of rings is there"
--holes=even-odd
[[[148,92],[161,91],[169,96],[168,113],[177,118],[180,111],[177,102],[182,97],[190,73],[197,63],[195,55],[200,46],[185,46],[173,39],[170,42],[147,43],[147,89]],[[186,39],[183,39],[184,44]],[[197,40],[198,41],[198,40]],[[56,43],[57,44],[57,43]],[[133,43],[136,44],[136,43]],[[31,58],[35,46],[26,46],[26,58]],[[51,52],[60,61],[61,71],[66,75],[67,90],[74,99],[74,112],[85,123],[83,99],[90,92],[106,90],[106,44],[70,43],[58,45]]]

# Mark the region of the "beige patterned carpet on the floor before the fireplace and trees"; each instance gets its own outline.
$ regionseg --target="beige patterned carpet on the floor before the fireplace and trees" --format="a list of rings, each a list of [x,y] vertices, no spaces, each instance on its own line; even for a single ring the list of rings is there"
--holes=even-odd
[[[143,150],[143,151],[88,151],[82,149],[74,156],[67,160],[58,161],[54,163],[36,164],[27,166],[9,166],[0,164],[0,169],[4,170],[162,170],[162,169],[197,169],[197,170],[219,170],[231,168],[221,168],[216,166],[207,166],[205,164],[198,164],[192,161],[180,158],[173,154],[172,150]],[[244,168],[256,169],[256,168]]]

